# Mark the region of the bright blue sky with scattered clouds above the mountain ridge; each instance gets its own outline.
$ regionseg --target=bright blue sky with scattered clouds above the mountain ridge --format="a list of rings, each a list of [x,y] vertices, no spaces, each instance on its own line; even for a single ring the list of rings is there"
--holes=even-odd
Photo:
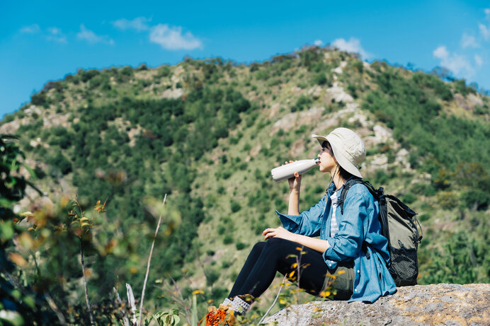
[[[342,2],[342,3],[341,3]],[[77,69],[336,45],[490,89],[489,1],[0,1],[0,117]]]

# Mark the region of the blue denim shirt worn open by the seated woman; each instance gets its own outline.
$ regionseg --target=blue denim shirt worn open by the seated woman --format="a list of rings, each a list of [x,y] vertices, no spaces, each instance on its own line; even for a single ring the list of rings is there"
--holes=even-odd
[[[338,262],[354,262],[354,289],[351,301],[375,302],[380,296],[387,296],[397,291],[392,275],[389,274],[388,240],[381,235],[381,224],[378,203],[369,190],[355,184],[346,194],[341,209],[336,209],[338,232],[330,236],[331,194],[335,191],[332,184],[326,196],[318,204],[300,215],[280,214],[275,211],[284,228],[292,233],[320,236],[329,242],[329,248],[323,253],[329,269],[337,267]],[[363,242],[367,250],[362,250]]]

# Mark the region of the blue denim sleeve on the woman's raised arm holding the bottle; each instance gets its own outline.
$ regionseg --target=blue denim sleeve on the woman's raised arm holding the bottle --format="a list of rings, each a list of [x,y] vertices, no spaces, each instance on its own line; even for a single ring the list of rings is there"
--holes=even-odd
[[[315,237],[320,235],[321,218],[325,211],[326,196],[322,197],[318,204],[302,211],[300,215],[278,214],[283,227],[292,233]]]

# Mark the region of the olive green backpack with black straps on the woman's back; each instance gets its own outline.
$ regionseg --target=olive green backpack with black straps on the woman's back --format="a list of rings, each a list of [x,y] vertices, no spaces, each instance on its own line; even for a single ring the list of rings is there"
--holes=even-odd
[[[381,234],[388,239],[388,251],[391,257],[388,269],[395,284],[397,286],[417,284],[417,248],[422,240],[422,228],[418,223],[416,213],[397,197],[384,194],[383,187],[375,190],[370,182],[353,178],[342,187],[338,202],[341,214],[343,214],[343,202],[348,190],[358,183],[365,185],[372,197],[375,197],[379,203],[380,215],[378,218],[381,223]]]

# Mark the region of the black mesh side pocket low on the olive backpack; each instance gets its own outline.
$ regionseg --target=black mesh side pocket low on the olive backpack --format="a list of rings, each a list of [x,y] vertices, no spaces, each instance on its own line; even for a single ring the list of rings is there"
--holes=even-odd
[[[418,276],[417,250],[406,248],[389,248],[392,265],[389,268],[395,281],[416,284]]]

